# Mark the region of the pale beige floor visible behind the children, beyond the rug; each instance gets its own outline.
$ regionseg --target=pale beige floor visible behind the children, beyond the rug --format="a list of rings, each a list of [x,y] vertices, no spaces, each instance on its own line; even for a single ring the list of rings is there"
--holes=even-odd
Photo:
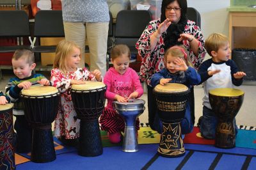
[[[50,77],[49,72],[42,72],[46,77]],[[4,87],[6,83],[9,81],[10,77],[13,76],[13,73],[10,70],[3,71],[3,80],[0,82],[0,90],[5,91]],[[255,83],[251,83],[255,84]],[[256,107],[255,107],[255,100],[256,100],[256,86],[248,86],[242,85],[237,87],[244,91],[244,101],[243,105],[236,116],[237,125],[246,125],[256,127]],[[202,98],[204,97],[204,90],[202,86],[195,86],[195,116],[196,116],[196,123],[198,118],[202,116]],[[145,111],[140,116],[140,121],[142,123],[148,122],[148,110],[147,110],[147,93],[145,92],[141,97],[143,100],[146,101],[145,104]]]

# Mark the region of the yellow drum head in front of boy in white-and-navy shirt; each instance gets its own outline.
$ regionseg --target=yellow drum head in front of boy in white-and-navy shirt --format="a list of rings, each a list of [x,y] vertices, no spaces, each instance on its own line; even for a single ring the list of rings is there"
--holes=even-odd
[[[234,88],[216,88],[216,89],[210,89],[209,93],[214,96],[220,96],[220,97],[239,97],[241,95],[244,95],[244,92],[240,89],[234,89]]]

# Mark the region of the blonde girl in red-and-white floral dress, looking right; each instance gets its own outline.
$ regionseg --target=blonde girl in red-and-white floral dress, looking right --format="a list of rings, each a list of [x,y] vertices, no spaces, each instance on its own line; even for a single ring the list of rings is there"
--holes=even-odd
[[[79,137],[79,123],[72,104],[70,88],[72,84],[85,84],[86,81],[102,81],[99,70],[90,72],[79,68],[81,48],[74,42],[62,40],[56,48],[56,58],[51,70],[52,86],[61,93],[61,102],[54,123],[54,135],[61,142],[74,146]]]

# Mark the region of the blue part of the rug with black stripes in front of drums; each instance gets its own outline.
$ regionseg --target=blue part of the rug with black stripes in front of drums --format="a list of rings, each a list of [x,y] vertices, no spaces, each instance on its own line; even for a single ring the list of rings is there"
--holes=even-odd
[[[126,153],[122,146],[103,148],[98,157],[81,157],[76,151],[57,155],[56,160],[38,164],[26,162],[19,169],[256,169],[256,150],[223,150],[212,145],[185,144],[186,155],[165,158],[156,154],[158,144],[140,144],[139,151]]]

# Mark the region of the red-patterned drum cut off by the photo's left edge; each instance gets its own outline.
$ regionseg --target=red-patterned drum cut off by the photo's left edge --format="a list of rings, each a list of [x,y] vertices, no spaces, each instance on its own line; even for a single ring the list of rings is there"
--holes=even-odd
[[[13,104],[0,105],[0,169],[15,169],[15,135],[12,119]]]

